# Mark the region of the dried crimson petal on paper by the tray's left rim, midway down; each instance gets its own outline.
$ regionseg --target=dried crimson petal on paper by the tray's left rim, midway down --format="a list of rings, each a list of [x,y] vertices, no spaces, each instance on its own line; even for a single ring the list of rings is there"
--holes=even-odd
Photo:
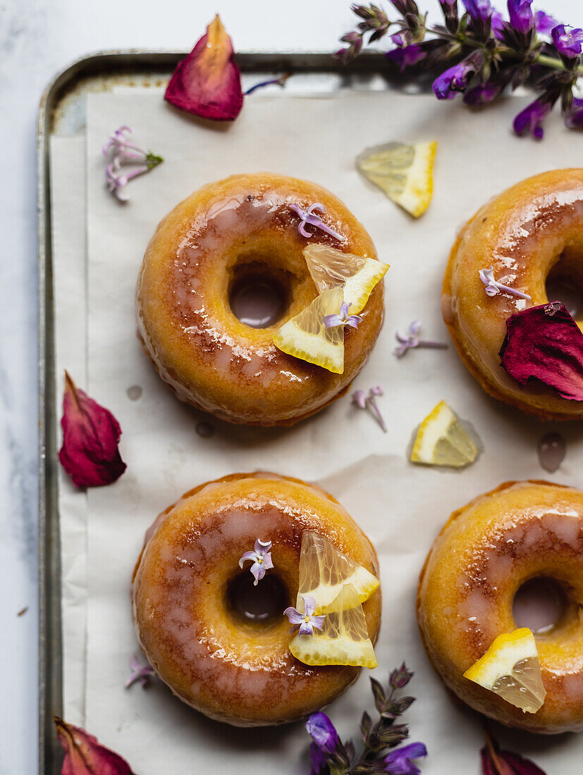
[[[119,479],[126,470],[118,449],[119,422],[80,390],[67,372],[60,424],[59,460],[75,487],[99,487]]]

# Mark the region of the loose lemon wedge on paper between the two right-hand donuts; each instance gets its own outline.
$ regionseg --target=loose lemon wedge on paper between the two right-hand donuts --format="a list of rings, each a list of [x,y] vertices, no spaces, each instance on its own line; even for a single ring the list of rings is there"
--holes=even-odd
[[[411,453],[412,463],[461,468],[473,463],[478,449],[457,415],[440,401],[419,425]]]

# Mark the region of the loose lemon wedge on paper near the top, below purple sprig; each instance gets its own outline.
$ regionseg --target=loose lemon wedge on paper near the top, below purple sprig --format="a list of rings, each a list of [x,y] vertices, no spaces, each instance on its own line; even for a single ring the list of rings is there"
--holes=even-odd
[[[414,145],[386,143],[360,153],[357,167],[389,199],[419,218],[433,196],[436,150],[436,141]]]

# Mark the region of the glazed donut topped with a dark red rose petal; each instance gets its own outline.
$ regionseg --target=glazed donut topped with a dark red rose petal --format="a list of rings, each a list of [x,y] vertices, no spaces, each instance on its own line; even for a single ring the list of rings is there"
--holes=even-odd
[[[530,294],[530,301],[501,293],[489,297],[479,279],[494,268],[496,280]],[[506,319],[546,304],[547,277],[583,279],[583,169],[528,178],[484,205],[467,222],[450,254],[443,280],[443,319],[462,360],[485,391],[543,419],[583,417],[583,401],[570,401],[542,383],[523,390],[500,365]],[[554,301],[553,298],[550,301]],[[583,320],[578,320],[583,326]]]

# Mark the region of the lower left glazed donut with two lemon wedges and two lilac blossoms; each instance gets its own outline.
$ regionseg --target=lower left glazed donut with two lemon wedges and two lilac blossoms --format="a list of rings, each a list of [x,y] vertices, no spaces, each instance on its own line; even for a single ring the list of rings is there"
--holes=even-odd
[[[378,577],[360,528],[332,496],[300,480],[233,474],[196,487],[157,518],[134,572],[133,618],[147,659],[181,700],[234,725],[280,724],[322,708],[356,679],[357,667],[309,667],[289,651],[283,611],[295,605],[304,530]],[[239,560],[257,538],[273,543],[274,567],[254,587]],[[249,618],[237,601],[253,607],[257,594],[267,602]],[[374,642],[380,587],[363,608]]]

